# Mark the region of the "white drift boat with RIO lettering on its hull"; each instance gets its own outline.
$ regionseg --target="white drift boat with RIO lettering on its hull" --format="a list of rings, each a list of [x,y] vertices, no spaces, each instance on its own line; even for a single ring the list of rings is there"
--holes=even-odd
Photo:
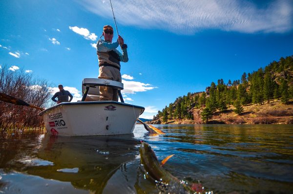
[[[85,99],[98,97],[99,86],[118,89],[121,102],[85,102]],[[120,82],[85,78],[83,80],[84,94],[81,102],[60,103],[40,113],[46,130],[55,135],[66,136],[132,133],[139,115],[144,112],[145,108],[124,103],[121,89],[123,89],[123,84]]]

